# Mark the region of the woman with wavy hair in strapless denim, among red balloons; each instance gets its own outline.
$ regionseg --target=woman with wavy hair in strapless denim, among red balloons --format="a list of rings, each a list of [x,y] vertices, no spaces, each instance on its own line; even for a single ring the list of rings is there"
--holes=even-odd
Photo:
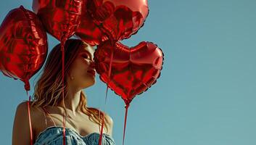
[[[94,49],[77,39],[65,43],[65,97],[62,99],[62,51],[52,49],[44,71],[36,83],[30,118],[33,144],[63,144],[63,115],[66,113],[66,144],[98,145],[100,125],[104,116],[102,142],[115,144],[112,138],[113,121],[98,109],[87,107],[83,88],[95,83]],[[30,125],[27,102],[18,105],[12,131],[12,144],[30,144]]]

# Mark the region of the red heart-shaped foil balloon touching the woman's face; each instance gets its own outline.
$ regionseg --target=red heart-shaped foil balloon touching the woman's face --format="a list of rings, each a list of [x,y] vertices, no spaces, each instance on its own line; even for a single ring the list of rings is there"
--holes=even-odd
[[[117,42],[106,41],[98,46],[94,53],[96,71],[101,80],[122,96],[125,104],[147,88],[152,86],[160,77],[162,70],[162,50],[152,42],[141,42],[129,48]],[[110,78],[108,72],[112,56]]]

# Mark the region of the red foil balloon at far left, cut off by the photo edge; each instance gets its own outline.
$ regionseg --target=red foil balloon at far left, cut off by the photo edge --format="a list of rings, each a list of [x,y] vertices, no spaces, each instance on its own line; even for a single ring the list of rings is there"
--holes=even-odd
[[[47,55],[47,36],[33,12],[20,6],[12,9],[0,26],[0,70],[25,83],[40,70]]]

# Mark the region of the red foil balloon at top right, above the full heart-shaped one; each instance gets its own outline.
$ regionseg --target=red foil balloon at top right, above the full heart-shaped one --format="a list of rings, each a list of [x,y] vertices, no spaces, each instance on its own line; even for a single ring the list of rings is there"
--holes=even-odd
[[[131,37],[149,14],[147,0],[91,0],[87,7],[96,25],[112,41]]]

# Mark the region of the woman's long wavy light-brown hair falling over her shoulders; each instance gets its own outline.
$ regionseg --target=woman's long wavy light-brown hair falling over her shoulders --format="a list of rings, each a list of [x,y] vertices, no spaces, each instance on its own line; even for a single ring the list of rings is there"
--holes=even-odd
[[[73,64],[75,57],[78,55],[78,50],[80,47],[88,46],[83,41],[78,39],[69,39],[65,42],[65,80],[64,80],[64,92],[65,97],[67,97],[67,74],[70,72],[70,67]],[[35,91],[33,94],[33,102],[31,107],[46,107],[57,106],[57,104],[63,102],[62,99],[62,51],[60,44],[55,46],[46,60],[46,65],[42,71],[41,77],[38,79]],[[96,109],[94,107],[87,107],[86,95],[83,91],[80,93],[80,110],[88,115],[89,120],[102,125],[102,119],[107,123],[110,120],[107,119],[106,113]],[[66,108],[65,113],[67,115]],[[104,122],[104,128],[108,130],[107,123]]]

